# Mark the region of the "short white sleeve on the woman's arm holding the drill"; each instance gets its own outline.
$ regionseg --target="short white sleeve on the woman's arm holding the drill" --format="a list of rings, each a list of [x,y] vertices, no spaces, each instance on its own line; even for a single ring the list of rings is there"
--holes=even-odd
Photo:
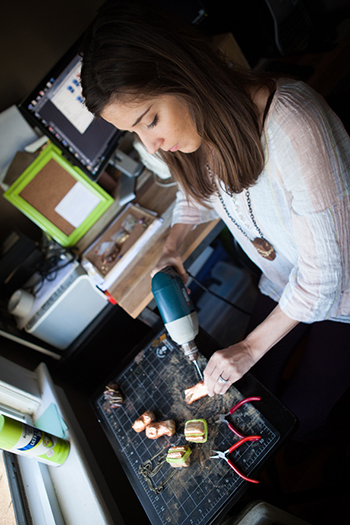
[[[206,207],[195,202],[194,199],[186,197],[181,186],[179,186],[179,190],[176,194],[172,225],[182,223],[193,224],[196,226],[197,224],[209,222],[218,217],[219,215],[210,204]]]

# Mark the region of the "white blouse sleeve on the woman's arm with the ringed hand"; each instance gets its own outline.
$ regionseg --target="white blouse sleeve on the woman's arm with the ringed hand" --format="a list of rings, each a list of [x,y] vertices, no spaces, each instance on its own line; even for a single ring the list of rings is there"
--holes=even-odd
[[[292,105],[281,173],[291,196],[298,263],[281,309],[311,323],[350,312],[350,140],[339,119],[312,94]]]

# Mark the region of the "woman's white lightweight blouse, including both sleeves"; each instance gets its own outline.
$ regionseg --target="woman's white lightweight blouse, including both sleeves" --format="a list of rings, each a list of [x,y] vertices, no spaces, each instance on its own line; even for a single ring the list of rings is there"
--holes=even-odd
[[[303,82],[280,80],[262,137],[266,164],[250,188],[255,221],[276,251],[264,259],[217,195],[210,209],[177,193],[173,224],[221,217],[262,270],[259,288],[290,318],[350,322],[350,139],[324,99]],[[217,187],[249,238],[259,237],[245,191]]]

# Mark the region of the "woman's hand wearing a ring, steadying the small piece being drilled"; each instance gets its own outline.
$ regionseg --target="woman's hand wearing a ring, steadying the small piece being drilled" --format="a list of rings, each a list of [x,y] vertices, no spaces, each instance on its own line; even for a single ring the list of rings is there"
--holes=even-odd
[[[244,376],[254,364],[255,360],[246,340],[215,352],[204,370],[208,395],[225,394],[232,383]],[[220,377],[227,382],[220,382]]]

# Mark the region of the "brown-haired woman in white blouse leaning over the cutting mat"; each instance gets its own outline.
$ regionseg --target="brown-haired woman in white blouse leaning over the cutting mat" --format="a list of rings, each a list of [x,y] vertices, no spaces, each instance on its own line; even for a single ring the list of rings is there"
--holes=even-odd
[[[173,265],[186,282],[184,237],[221,217],[262,271],[250,333],[204,371],[209,395],[252,370],[299,418],[297,439],[320,436],[350,383],[350,146],[338,118],[301,82],[230,69],[193,28],[144,3],[99,13],[82,87],[92,113],[136,132],[179,182],[156,270]]]

